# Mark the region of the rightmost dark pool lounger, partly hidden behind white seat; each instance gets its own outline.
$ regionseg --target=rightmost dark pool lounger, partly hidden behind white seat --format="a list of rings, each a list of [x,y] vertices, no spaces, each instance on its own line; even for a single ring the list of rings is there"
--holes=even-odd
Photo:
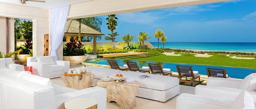
[[[228,78],[225,69],[206,68],[208,77]]]

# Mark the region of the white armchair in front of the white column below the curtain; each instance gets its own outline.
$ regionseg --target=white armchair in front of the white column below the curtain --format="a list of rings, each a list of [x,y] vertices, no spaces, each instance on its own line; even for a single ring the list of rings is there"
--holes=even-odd
[[[33,67],[33,74],[52,79],[68,71],[69,61],[57,60],[56,56],[27,57],[27,66]]]

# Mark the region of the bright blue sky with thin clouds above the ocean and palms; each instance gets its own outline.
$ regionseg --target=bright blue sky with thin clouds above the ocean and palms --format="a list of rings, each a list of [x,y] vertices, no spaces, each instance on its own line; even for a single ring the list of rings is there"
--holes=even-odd
[[[106,16],[100,17],[102,33],[110,33]],[[133,41],[138,41],[139,32],[146,31],[151,36],[148,41],[157,42],[154,32],[162,29],[167,42],[256,42],[256,0],[130,12],[117,17],[117,41],[125,34],[134,35]]]

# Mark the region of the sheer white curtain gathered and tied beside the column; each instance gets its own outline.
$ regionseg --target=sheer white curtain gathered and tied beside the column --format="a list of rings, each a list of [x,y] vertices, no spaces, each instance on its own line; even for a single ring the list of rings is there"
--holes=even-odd
[[[51,56],[57,56],[57,49],[63,41],[68,19],[69,5],[50,9]]]

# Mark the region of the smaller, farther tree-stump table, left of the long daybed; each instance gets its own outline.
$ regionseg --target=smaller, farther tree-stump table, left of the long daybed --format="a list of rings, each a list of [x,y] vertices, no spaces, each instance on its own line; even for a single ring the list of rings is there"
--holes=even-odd
[[[67,74],[61,76],[67,87],[84,89],[92,86],[94,75],[92,73]]]

